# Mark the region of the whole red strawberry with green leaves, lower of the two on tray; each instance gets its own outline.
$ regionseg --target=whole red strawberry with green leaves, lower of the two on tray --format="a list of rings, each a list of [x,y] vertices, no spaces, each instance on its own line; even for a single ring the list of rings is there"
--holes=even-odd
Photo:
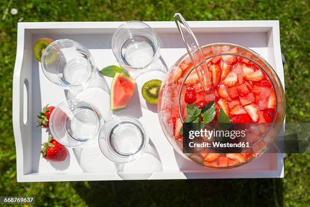
[[[43,148],[41,149],[42,156],[47,160],[52,160],[55,162],[60,162],[66,159],[67,150],[66,148],[59,144],[53,136],[49,136],[49,141],[43,143]]]

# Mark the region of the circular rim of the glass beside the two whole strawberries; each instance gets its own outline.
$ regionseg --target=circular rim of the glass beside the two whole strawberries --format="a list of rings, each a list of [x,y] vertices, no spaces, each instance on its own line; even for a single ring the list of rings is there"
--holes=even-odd
[[[62,106],[65,106],[65,103],[68,103],[68,102],[84,102],[84,103],[86,103],[86,104],[92,109],[92,111],[93,111],[94,114],[96,115],[95,117],[96,117],[96,123],[97,123],[97,125],[96,125],[96,129],[95,129],[95,132],[93,133],[93,135],[90,137],[90,139],[89,139],[88,141],[86,141],[86,142],[81,142],[81,144],[79,144],[79,145],[74,145],[74,146],[70,146],[70,145],[68,145],[68,144],[65,144],[65,143],[63,143],[61,140],[59,140],[58,137],[54,136],[55,130],[54,130],[54,127],[53,127],[53,117],[54,117],[54,114],[55,114],[55,113],[53,113],[53,112],[56,111],[56,109],[61,109],[61,107],[62,107]],[[69,100],[64,100],[64,101],[60,102],[60,103],[55,107],[55,109],[52,111],[52,113],[51,113],[51,116],[50,116],[50,119],[49,119],[49,125],[50,125],[49,129],[50,129],[50,131],[51,131],[51,134],[53,135],[54,139],[55,139],[57,142],[59,142],[60,144],[62,144],[63,146],[66,146],[66,147],[69,147],[69,148],[81,147],[81,146],[83,146],[83,145],[89,143],[91,140],[93,140],[94,137],[95,137],[95,135],[96,135],[96,133],[97,133],[98,130],[99,130],[99,127],[100,127],[100,119],[99,119],[99,115],[98,115],[96,112],[98,113],[98,110],[97,110],[96,108],[94,108],[90,103],[88,103],[88,102],[86,102],[86,101],[84,101],[84,100],[80,100],[80,99],[69,99]]]

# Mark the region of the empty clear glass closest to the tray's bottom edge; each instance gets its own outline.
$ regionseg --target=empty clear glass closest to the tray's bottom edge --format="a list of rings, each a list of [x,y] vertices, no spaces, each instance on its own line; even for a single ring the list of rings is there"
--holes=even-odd
[[[102,153],[115,163],[127,163],[138,158],[148,145],[148,136],[135,118],[114,116],[99,132]]]

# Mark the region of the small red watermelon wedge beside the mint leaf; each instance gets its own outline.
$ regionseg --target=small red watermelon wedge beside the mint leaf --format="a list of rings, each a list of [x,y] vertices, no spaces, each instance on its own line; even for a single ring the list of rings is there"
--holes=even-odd
[[[111,110],[123,109],[127,106],[135,89],[135,80],[124,73],[115,73],[111,85]]]

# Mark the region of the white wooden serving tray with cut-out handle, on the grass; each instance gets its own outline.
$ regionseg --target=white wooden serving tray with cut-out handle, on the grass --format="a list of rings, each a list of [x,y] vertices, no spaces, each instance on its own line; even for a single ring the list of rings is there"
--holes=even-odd
[[[283,178],[283,154],[264,154],[233,169],[211,169],[191,163],[178,155],[162,132],[156,107],[148,109],[135,91],[130,106],[120,113],[133,115],[145,125],[151,144],[137,160],[117,165],[100,152],[97,140],[83,149],[69,149],[60,163],[40,155],[46,130],[36,127],[42,107],[66,99],[59,86],[50,83],[32,55],[32,46],[42,37],[72,39],[85,45],[98,68],[117,64],[110,49],[111,36],[123,22],[28,22],[18,23],[17,52],[13,78],[13,126],[17,154],[17,181],[152,180],[210,178]],[[174,22],[146,22],[157,32],[162,60],[168,68],[186,52]],[[277,71],[284,86],[278,21],[192,21],[189,26],[201,45],[216,42],[253,49]],[[153,78],[153,77],[151,77]],[[110,79],[106,79],[110,85]],[[139,88],[138,83],[138,88]],[[108,102],[107,97],[97,101]]]

